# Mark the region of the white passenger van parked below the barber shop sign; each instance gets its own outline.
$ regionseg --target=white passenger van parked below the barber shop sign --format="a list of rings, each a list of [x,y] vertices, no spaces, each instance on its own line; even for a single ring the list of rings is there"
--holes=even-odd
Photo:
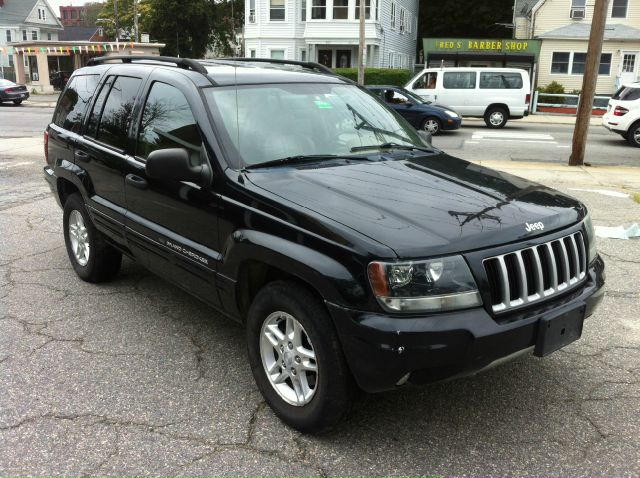
[[[516,68],[427,68],[405,88],[463,116],[484,118],[489,128],[529,114],[529,73]]]

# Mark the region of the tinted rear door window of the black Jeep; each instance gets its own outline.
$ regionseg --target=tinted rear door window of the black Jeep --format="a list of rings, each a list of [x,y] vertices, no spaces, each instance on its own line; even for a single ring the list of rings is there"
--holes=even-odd
[[[113,82],[104,104],[96,139],[118,149],[125,149],[127,132],[136,94],[142,80],[119,76]]]

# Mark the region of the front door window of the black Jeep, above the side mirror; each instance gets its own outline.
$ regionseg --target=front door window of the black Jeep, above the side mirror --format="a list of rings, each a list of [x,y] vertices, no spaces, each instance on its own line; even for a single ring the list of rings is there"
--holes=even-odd
[[[146,158],[157,149],[185,148],[192,164],[200,162],[202,137],[187,99],[165,83],[151,86],[142,113],[137,154]]]

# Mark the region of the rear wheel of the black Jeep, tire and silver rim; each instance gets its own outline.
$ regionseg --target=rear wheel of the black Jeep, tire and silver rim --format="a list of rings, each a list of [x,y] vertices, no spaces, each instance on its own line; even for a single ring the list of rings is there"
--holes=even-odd
[[[122,254],[95,228],[78,193],[64,203],[63,228],[69,260],[82,280],[104,282],[120,271]]]

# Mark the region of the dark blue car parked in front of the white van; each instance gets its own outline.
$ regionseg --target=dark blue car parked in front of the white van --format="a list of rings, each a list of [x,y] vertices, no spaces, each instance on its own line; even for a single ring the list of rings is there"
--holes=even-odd
[[[462,124],[460,115],[451,108],[431,105],[420,96],[396,86],[367,86],[406,119],[411,126],[424,130],[432,136],[441,131],[458,129]]]

